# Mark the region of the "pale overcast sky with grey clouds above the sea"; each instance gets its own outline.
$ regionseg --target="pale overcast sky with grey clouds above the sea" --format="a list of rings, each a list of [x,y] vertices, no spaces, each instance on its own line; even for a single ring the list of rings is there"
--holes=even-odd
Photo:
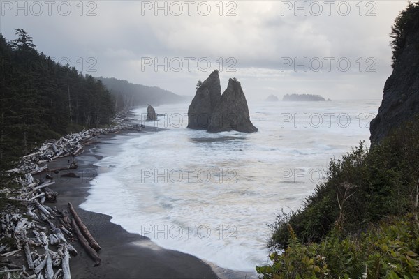
[[[182,95],[219,69],[222,90],[237,77],[250,100],[379,99],[392,71],[390,27],[407,3],[1,1],[0,31],[13,40],[23,28],[82,73]]]

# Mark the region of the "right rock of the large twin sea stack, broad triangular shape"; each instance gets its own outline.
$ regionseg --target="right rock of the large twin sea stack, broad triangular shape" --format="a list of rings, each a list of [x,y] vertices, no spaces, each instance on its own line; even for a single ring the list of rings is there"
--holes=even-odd
[[[237,130],[238,132],[257,132],[258,128],[250,121],[249,108],[240,82],[228,80],[228,86],[212,113],[208,132],[218,133]]]

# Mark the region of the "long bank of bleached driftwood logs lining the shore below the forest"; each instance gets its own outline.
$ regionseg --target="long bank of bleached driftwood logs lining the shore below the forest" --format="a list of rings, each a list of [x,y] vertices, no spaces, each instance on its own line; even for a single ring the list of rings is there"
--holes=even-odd
[[[46,163],[56,158],[80,155],[83,147],[94,143],[97,135],[140,130],[138,124],[128,125],[122,120],[120,117],[115,119],[118,125],[111,128],[93,128],[65,135],[59,140],[47,140],[22,157],[18,167],[7,171],[10,177],[20,176],[15,178],[20,187],[0,192],[20,206],[9,205],[0,213],[0,278],[71,278],[69,259],[70,255],[77,255],[71,245],[75,240],[80,241],[95,265],[100,264],[97,251],[101,247],[73,206],[68,204],[68,210],[59,211],[45,204],[57,200],[57,192],[49,187],[54,184],[52,176],[46,174],[44,180],[34,179],[32,175],[48,171]],[[49,171],[57,173],[77,167],[73,159],[68,167]],[[15,257],[23,254],[24,262]]]

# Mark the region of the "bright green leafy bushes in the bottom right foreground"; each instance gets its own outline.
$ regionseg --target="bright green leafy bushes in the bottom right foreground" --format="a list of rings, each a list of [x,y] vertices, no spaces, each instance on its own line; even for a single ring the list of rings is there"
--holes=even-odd
[[[256,266],[263,278],[419,278],[418,224],[411,215],[388,218],[356,236],[334,230],[325,241],[304,245],[291,225],[290,243],[272,264]]]

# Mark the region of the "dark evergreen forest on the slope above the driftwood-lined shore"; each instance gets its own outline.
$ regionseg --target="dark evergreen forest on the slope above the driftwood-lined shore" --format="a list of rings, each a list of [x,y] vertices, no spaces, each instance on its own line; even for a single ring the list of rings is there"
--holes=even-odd
[[[115,98],[102,82],[38,52],[31,36],[0,34],[0,164],[47,138],[111,123]]]

